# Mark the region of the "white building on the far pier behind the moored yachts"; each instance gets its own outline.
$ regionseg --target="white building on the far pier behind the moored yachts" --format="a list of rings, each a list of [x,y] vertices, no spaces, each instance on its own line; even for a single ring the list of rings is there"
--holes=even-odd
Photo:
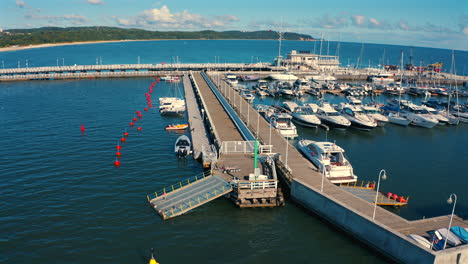
[[[318,55],[309,51],[292,50],[286,59],[282,61],[282,65],[292,68],[306,67],[312,70],[330,71],[338,69],[340,61],[338,56]]]

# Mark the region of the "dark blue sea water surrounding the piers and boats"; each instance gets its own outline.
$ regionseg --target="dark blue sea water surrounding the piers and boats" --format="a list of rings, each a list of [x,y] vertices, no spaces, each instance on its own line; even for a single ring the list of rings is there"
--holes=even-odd
[[[54,65],[63,54],[66,61],[89,64],[103,54],[104,63],[131,63],[143,52],[142,63],[171,56],[206,62],[218,55],[221,60],[248,60],[257,50],[270,48],[274,56],[275,50],[268,41],[137,43],[8,52],[0,58],[13,65],[16,57],[29,58],[31,66]],[[197,46],[201,43],[206,45]],[[154,45],[160,47],[150,48]],[[241,210],[220,199],[162,221],[148,206],[146,194],[201,168],[191,159],[177,160],[172,149],[178,135],[163,130],[182,118],[142,111],[152,81],[0,83],[0,263],[146,263],[150,247],[161,263],[387,261],[291,202],[281,208]],[[153,99],[177,92],[177,87],[161,83]],[[143,112],[137,122],[141,132],[128,127],[137,110]],[[80,124],[86,126],[84,135]],[[125,131],[130,136],[122,147],[122,166],[116,169],[115,145]],[[457,213],[467,217],[467,132],[466,124],[430,130],[389,125],[371,133],[300,129],[303,138],[336,140],[361,179],[374,179],[380,169],[387,169],[382,189],[411,196],[410,204],[398,212],[410,219],[449,213],[445,200],[452,192],[459,195]]]

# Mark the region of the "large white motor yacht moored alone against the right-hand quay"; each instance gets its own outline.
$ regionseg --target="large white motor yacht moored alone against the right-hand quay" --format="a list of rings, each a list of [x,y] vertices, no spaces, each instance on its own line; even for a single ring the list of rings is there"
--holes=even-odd
[[[344,155],[344,149],[332,142],[299,140],[299,150],[330,182],[335,184],[357,181],[353,167]]]

